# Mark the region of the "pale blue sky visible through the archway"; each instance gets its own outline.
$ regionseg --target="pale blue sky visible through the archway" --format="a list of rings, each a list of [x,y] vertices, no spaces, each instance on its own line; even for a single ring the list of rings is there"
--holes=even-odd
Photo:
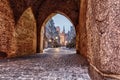
[[[60,32],[63,31],[63,26],[65,26],[65,33],[67,33],[70,30],[70,26],[73,26],[70,20],[61,14],[56,14],[52,17],[52,19],[54,20],[55,26],[60,27]]]

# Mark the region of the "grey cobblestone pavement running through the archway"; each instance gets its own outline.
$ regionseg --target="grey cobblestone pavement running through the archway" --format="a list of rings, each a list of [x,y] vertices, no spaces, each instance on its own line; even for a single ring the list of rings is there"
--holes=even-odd
[[[75,50],[55,48],[1,60],[0,80],[90,80],[90,77],[86,60]]]

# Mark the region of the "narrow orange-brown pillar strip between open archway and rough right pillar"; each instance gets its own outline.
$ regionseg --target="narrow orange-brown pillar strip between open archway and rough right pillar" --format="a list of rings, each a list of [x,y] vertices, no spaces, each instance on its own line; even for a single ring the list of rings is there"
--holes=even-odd
[[[80,1],[79,14],[79,51],[82,55],[87,57],[87,33],[86,33],[86,9],[87,1]]]

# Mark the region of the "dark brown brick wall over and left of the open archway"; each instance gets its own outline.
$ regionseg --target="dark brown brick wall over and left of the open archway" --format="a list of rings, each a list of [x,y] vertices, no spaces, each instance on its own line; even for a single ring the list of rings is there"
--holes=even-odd
[[[77,0],[78,1],[78,0]],[[50,16],[52,13],[63,13],[67,15],[73,22],[74,26],[76,27],[78,25],[78,19],[79,19],[79,7],[77,6],[76,2],[74,0],[52,0],[52,1],[44,1],[44,3],[39,8],[39,15],[38,15],[38,51],[40,51],[40,30],[43,27],[44,21]],[[51,17],[52,18],[52,17]]]

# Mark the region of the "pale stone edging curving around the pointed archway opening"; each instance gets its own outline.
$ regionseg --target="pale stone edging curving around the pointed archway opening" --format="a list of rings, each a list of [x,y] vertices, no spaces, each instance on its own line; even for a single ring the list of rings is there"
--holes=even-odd
[[[56,11],[55,13],[52,13],[50,14],[46,19],[45,21],[43,22],[42,26],[41,26],[41,29],[40,29],[40,52],[43,52],[43,49],[44,49],[44,34],[45,34],[45,25],[46,23],[52,18],[54,17],[56,14],[60,14],[60,15],[63,15],[65,16],[71,23],[72,25],[74,26],[75,28],[75,33],[76,33],[76,27],[75,25],[73,24],[72,20],[65,14],[65,13],[62,13],[60,11]]]

